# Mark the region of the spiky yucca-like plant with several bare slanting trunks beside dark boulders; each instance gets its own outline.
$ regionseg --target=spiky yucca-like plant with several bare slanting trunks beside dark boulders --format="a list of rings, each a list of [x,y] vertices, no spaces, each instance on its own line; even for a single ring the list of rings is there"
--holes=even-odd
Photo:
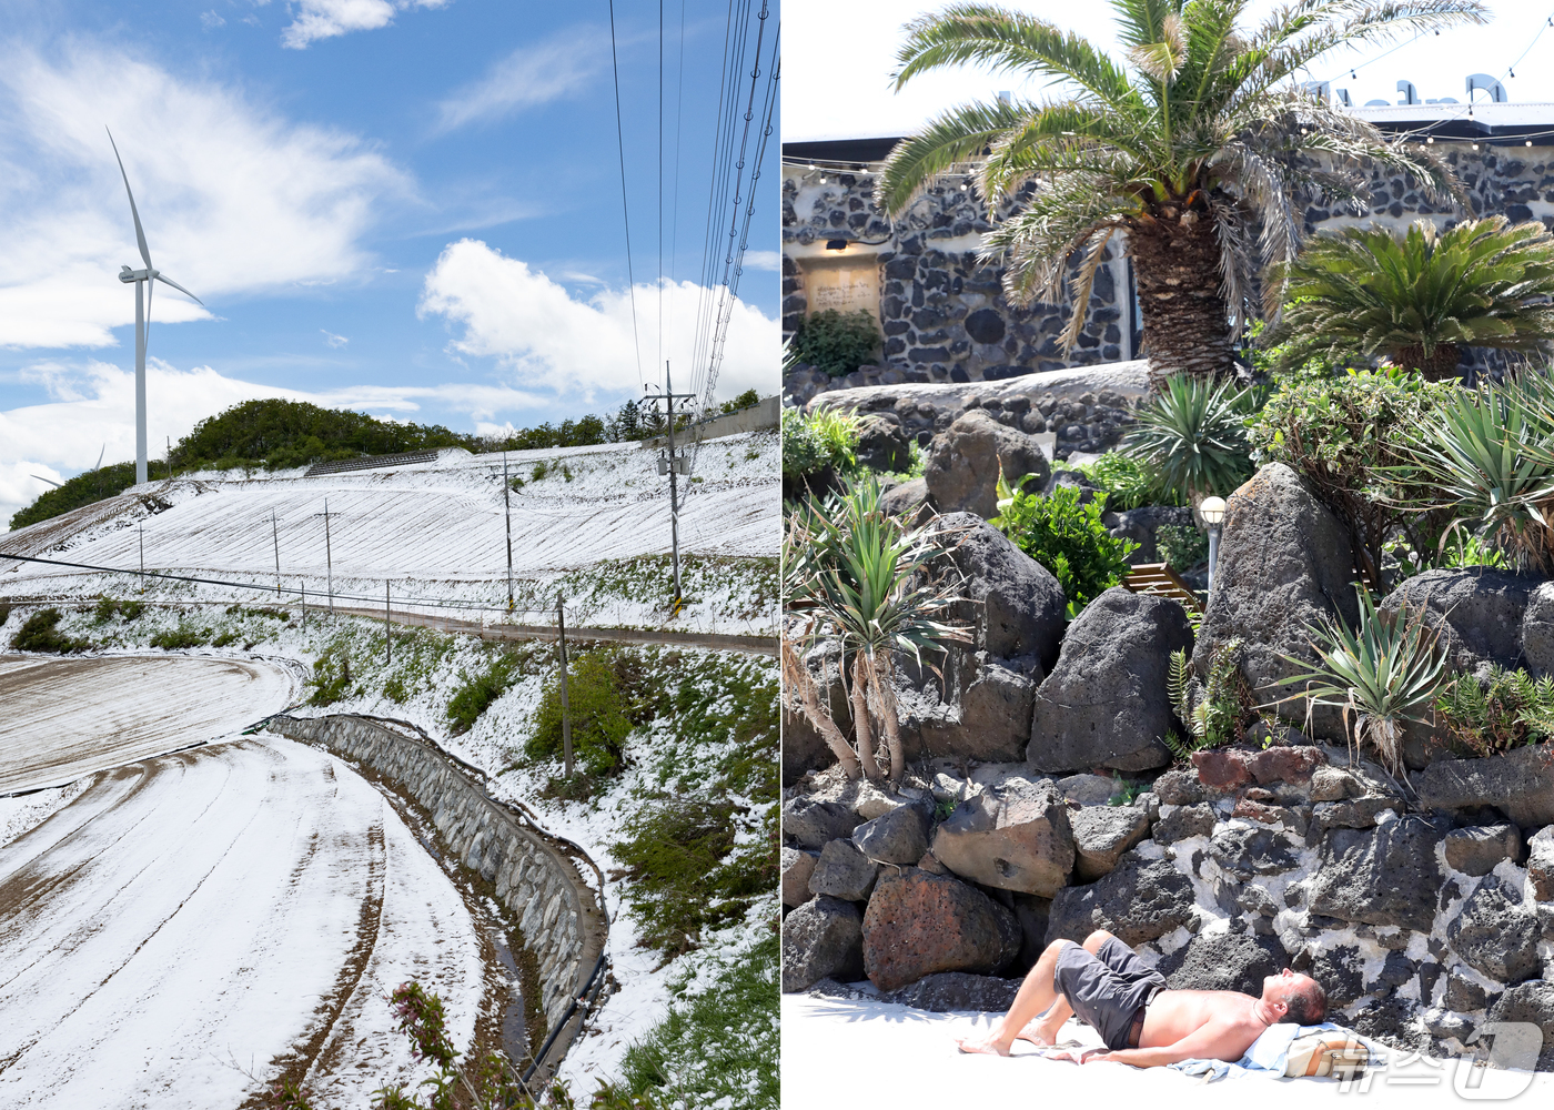
[[[875,756],[870,709],[880,721],[889,754],[889,777],[906,771],[892,675],[897,656],[943,651],[946,641],[970,641],[965,625],[948,620],[960,599],[954,583],[925,574],[943,553],[945,530],[932,524],[908,529],[880,508],[873,474],[850,482],[825,505],[813,499],[796,508],[783,538],[783,594],[789,628],[782,641],[786,687],[811,724],[825,738],[847,777],[881,777]],[[841,647],[838,676],[847,687],[852,659],[852,717],[856,749],[831,718],[817,682],[803,662],[816,645]],[[824,667],[824,661],[822,661]]]

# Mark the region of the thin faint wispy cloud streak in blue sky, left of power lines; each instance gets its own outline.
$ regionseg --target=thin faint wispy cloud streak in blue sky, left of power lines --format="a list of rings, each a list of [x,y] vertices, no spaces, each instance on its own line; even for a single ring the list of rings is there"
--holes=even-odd
[[[592,26],[569,28],[533,47],[519,47],[438,106],[438,131],[490,123],[566,96],[598,73],[605,61],[601,36]]]

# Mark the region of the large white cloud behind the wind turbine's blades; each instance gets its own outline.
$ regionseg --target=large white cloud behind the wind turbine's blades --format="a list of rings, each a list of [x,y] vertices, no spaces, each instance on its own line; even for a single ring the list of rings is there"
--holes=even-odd
[[[112,79],[104,79],[112,75]],[[222,294],[364,271],[375,202],[406,177],[361,140],[297,126],[233,89],[107,48],[0,51],[0,345],[106,347],[134,322],[120,264],[140,266],[113,129],[159,269]],[[168,294],[165,288],[160,294]],[[162,323],[208,319],[159,295]],[[155,342],[155,340],[152,340]]]

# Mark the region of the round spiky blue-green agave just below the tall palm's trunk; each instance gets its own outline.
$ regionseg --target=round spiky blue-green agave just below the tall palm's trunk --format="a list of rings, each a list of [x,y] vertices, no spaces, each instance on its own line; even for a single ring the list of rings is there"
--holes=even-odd
[[[1183,490],[1197,510],[1204,497],[1223,497],[1253,476],[1249,401],[1249,390],[1229,382],[1173,375],[1139,410],[1122,451],[1153,469],[1161,485]]]

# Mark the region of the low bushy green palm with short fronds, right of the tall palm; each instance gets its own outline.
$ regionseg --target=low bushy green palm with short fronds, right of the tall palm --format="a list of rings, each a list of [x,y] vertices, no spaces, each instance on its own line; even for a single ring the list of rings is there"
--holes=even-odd
[[[1458,348],[1548,353],[1554,345],[1554,235],[1504,216],[1406,235],[1344,229],[1277,267],[1293,298],[1285,362],[1315,353],[1386,354],[1425,378],[1456,373]]]

